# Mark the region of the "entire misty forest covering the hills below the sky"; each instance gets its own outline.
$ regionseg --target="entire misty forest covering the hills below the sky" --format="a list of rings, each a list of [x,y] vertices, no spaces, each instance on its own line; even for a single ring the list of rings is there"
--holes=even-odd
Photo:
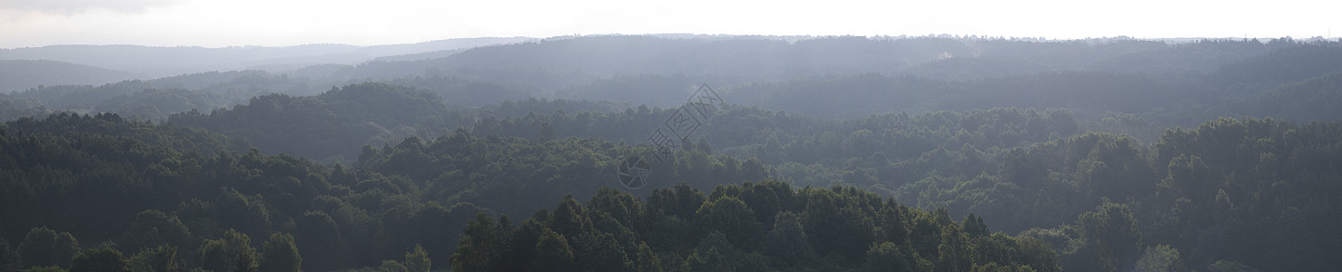
[[[28,84],[0,94],[0,272],[1243,272],[1342,252],[1337,42],[612,35],[94,64],[0,60]]]

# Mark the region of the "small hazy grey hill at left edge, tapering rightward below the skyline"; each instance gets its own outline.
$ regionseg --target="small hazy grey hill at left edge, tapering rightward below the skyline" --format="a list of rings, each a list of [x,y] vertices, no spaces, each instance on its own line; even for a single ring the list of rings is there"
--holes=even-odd
[[[0,60],[0,91],[54,84],[103,84],[145,75],[52,60]]]

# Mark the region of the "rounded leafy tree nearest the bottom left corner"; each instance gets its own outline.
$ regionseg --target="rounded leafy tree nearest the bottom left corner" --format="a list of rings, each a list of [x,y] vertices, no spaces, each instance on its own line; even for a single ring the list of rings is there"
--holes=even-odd
[[[68,232],[56,233],[46,226],[32,228],[19,244],[19,259],[24,268],[70,267],[70,260],[79,252],[79,241]]]

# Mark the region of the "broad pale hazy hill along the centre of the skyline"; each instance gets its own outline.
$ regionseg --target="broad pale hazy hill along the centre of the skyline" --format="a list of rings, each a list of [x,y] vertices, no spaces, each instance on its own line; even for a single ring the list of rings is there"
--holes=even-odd
[[[497,72],[544,70],[597,78],[684,74],[690,78],[718,79],[719,84],[737,84],[804,75],[895,72],[911,64],[943,58],[946,54],[970,52],[958,40],[939,38],[840,36],[788,42],[781,38],[581,36],[479,47],[427,60],[373,62],[360,66],[356,78],[423,74],[429,68]],[[552,84],[539,86],[552,90],[564,87],[553,86],[553,82],[537,82],[537,84]]]

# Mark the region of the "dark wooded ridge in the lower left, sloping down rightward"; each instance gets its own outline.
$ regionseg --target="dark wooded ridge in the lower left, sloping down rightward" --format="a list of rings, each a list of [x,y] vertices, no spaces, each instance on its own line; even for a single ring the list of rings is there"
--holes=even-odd
[[[433,233],[454,233],[484,210],[420,200],[412,190],[420,185],[404,177],[262,155],[255,149],[236,151],[231,142],[219,134],[129,122],[111,114],[7,123],[0,137],[0,162],[5,165],[0,190],[0,217],[5,220],[0,225],[9,243],[5,249],[19,256],[7,255],[4,260],[17,261],[7,265],[75,271],[71,255],[38,251],[42,244],[35,243],[55,249],[79,245],[74,239],[40,239],[59,230],[75,233],[62,237],[86,241],[85,253],[107,248],[132,260],[145,255],[177,267],[168,271],[235,271],[238,261],[248,259],[264,267],[267,244],[274,243],[301,248],[294,256],[302,253],[309,269],[377,267],[409,251],[400,248],[405,241],[386,236],[403,233],[399,224],[415,222],[392,220],[397,217],[389,214],[397,213],[391,210],[459,214],[456,222],[432,216],[439,224],[424,232]],[[263,237],[270,237],[268,243]],[[424,241],[442,255],[439,260],[447,260],[455,243],[442,243],[435,248]],[[392,257],[384,259],[384,253]]]

